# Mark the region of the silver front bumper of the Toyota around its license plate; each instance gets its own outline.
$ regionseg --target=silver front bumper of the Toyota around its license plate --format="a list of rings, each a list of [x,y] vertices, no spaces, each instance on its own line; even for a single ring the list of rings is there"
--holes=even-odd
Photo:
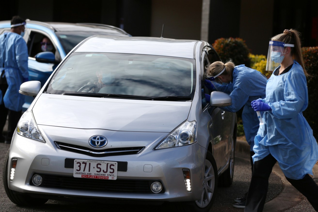
[[[41,131],[43,132],[43,129]],[[68,131],[68,133],[70,132]],[[133,137],[136,132],[131,133]],[[91,135],[92,133],[88,134]],[[151,133],[145,133],[144,137],[147,137],[147,134]],[[161,134],[162,135],[158,135],[158,133],[156,133],[155,136],[160,140],[167,133]],[[153,150],[158,143],[156,140],[149,146],[146,146],[139,154],[96,158],[59,149],[55,145],[54,140],[52,140],[52,136],[45,136],[45,140],[46,143],[41,143],[17,134],[14,135],[10,147],[8,167],[10,168],[12,158],[17,159],[17,167],[13,181],[8,182],[11,190],[51,196],[168,202],[194,201],[201,198],[206,149],[197,143],[183,147]],[[121,180],[160,181],[164,190],[162,193],[155,194],[127,191],[124,189],[122,191],[96,190],[93,189],[93,187],[91,189],[63,186],[60,188],[41,187],[34,186],[31,183],[33,174],[54,176],[57,179],[61,179],[61,181],[63,181],[64,178],[78,180],[77,178],[73,178],[73,168],[65,168],[66,158],[127,162],[127,171],[118,171],[117,173],[118,182]],[[189,169],[191,173],[191,192],[186,190],[182,171],[184,168]],[[102,181],[111,183],[111,180]]]

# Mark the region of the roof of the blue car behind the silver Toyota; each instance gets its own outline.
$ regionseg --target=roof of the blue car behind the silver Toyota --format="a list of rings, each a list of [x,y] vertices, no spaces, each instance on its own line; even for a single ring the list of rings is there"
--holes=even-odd
[[[49,28],[55,32],[74,32],[74,31],[89,31],[89,32],[104,32],[107,34],[124,34],[126,36],[131,36],[126,31],[111,25],[106,24],[95,24],[95,23],[66,23],[66,22],[41,22],[41,21],[31,21],[26,20],[26,27],[32,25],[41,25],[42,27]],[[10,20],[0,21],[0,28],[10,28]],[[31,27],[32,28],[32,27]]]

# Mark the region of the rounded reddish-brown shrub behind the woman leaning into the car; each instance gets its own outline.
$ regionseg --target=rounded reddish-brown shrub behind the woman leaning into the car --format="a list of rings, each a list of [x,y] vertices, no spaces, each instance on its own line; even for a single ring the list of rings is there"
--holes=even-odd
[[[223,62],[232,59],[235,65],[250,67],[249,49],[241,38],[219,38],[212,44]]]

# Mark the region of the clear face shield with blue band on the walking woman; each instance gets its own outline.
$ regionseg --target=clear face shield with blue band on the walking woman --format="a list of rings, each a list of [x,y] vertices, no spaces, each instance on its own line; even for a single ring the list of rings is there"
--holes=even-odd
[[[294,44],[285,44],[280,41],[269,41],[266,71],[274,71],[284,59],[284,47],[294,47]]]

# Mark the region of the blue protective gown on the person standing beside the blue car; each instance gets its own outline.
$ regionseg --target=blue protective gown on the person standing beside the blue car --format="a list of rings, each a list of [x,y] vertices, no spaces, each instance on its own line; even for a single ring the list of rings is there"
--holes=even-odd
[[[0,36],[0,76],[3,71],[8,89],[3,96],[3,102],[0,98],[0,104],[4,103],[9,110],[21,111],[24,96],[19,93],[19,89],[29,77],[28,48],[22,36],[14,32],[6,32]]]

